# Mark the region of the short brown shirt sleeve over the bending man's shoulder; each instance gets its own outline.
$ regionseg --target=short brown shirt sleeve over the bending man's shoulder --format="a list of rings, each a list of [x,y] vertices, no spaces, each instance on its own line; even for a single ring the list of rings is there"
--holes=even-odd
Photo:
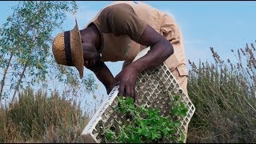
[[[138,42],[147,25],[138,18],[132,7],[125,3],[106,7],[99,15],[99,20],[103,33],[128,35],[134,42]]]

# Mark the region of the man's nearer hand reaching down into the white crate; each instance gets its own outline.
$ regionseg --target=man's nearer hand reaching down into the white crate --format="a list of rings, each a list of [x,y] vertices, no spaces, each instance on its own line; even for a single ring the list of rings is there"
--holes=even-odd
[[[124,97],[130,96],[135,100],[135,82],[138,70],[133,65],[126,66],[116,77],[115,81],[119,82],[119,93]]]

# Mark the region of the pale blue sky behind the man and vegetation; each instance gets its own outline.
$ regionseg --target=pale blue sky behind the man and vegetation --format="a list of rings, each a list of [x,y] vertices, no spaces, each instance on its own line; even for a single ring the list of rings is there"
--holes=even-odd
[[[231,49],[254,43],[256,39],[255,14],[256,2],[251,1],[144,1],[150,6],[162,10],[174,17],[182,30],[186,60],[195,62],[214,62],[210,47],[218,52],[223,60],[234,58]],[[111,1],[78,1],[78,27],[82,29],[104,6]],[[0,25],[12,14],[11,7],[18,2],[0,2]],[[74,28],[74,16],[67,14],[63,30]],[[53,36],[61,31],[54,31]],[[117,75],[122,69],[122,62],[106,62],[112,74]],[[190,69],[190,66],[188,65]],[[84,70],[84,74],[93,74]],[[96,77],[94,77],[96,78]],[[105,87],[96,78],[98,95],[106,96]],[[92,95],[86,96],[94,102]]]

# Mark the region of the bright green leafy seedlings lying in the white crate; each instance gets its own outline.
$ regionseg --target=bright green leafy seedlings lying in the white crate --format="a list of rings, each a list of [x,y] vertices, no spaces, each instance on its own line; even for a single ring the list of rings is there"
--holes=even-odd
[[[184,116],[187,112],[185,105],[178,102],[173,106],[170,115],[164,117],[160,114],[160,110],[150,109],[146,106],[134,106],[134,99],[127,97],[118,97],[119,106],[115,110],[121,114],[126,114],[125,122],[119,123],[117,126],[106,128],[104,142],[118,143],[142,143],[142,142],[183,142],[177,138],[180,122],[178,120],[170,121],[170,117]],[[186,114],[185,114],[186,115]]]

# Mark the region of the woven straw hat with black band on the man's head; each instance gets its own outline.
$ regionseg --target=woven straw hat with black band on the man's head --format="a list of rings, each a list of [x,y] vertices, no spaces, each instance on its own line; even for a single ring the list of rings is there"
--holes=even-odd
[[[82,39],[78,30],[78,22],[75,19],[73,30],[58,34],[52,43],[54,58],[58,64],[75,66],[80,78],[83,76]]]

